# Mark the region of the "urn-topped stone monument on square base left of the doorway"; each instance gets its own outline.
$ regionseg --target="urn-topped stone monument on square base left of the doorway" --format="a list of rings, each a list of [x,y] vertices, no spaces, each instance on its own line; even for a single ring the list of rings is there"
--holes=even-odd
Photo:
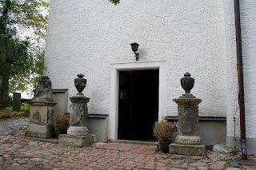
[[[60,143],[75,147],[90,146],[94,143],[94,136],[90,136],[88,128],[86,128],[87,103],[90,98],[85,97],[82,93],[82,90],[86,87],[86,79],[82,77],[84,75],[79,73],[78,78],[74,79],[74,85],[78,93],[74,97],[70,97],[72,102],[70,128],[67,129],[67,134],[58,136]]]

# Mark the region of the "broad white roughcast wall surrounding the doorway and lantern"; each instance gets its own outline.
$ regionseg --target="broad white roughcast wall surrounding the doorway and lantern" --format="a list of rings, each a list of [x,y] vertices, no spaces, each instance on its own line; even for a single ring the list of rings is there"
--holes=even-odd
[[[52,1],[44,74],[53,89],[69,89],[69,97],[77,93],[76,75],[85,74],[89,113],[110,114],[110,98],[116,95],[110,91],[116,78],[110,65],[164,62],[166,115],[177,116],[172,100],[184,93],[180,78],[189,72],[195,79],[191,93],[202,99],[199,116],[225,117],[223,11],[222,0],[122,0],[118,6],[107,0]],[[139,61],[131,42],[140,44]],[[111,120],[115,117],[110,125]]]

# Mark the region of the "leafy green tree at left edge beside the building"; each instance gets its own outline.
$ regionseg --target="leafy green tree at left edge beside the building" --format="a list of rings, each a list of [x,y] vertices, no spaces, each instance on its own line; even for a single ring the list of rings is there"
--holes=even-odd
[[[49,0],[0,0],[0,108],[10,91],[42,75],[48,7]]]

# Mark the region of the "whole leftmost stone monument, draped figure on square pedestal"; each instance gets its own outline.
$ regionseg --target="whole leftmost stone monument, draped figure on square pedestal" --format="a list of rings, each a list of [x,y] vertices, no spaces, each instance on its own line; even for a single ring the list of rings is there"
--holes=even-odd
[[[54,137],[54,105],[51,81],[48,76],[41,77],[34,91],[34,98],[29,102],[30,125],[25,136],[52,138]]]

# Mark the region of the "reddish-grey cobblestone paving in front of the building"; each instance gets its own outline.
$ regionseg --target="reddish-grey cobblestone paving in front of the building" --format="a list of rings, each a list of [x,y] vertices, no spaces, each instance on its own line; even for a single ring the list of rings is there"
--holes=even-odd
[[[2,124],[2,121],[0,121]],[[255,166],[231,164],[234,156],[206,150],[205,156],[181,156],[155,152],[141,144],[96,144],[74,148],[47,141],[31,140],[24,130],[0,138],[0,170],[19,169],[157,169],[236,170]],[[238,157],[238,156],[237,156]],[[255,157],[251,156],[252,159]],[[233,166],[233,167],[231,167]],[[237,168],[235,168],[238,166]]]

